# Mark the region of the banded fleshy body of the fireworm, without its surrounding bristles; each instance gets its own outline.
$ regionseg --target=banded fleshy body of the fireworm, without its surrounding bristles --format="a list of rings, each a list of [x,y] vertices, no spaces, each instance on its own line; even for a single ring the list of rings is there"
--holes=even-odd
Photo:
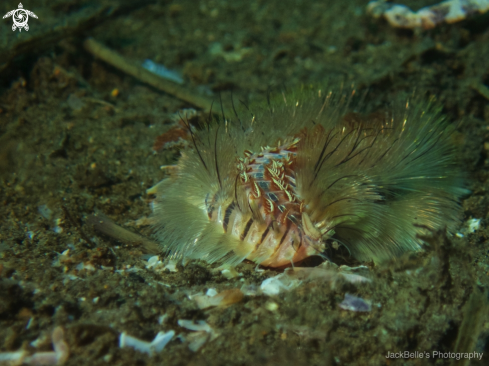
[[[222,225],[224,233],[239,238],[247,259],[264,266],[289,265],[324,250],[320,236],[314,238],[303,225],[304,219],[310,221],[296,189],[298,142],[299,138],[279,142],[277,147],[267,146],[259,153],[246,150],[245,157],[238,158],[232,202],[220,206],[217,194],[206,199],[209,219]],[[243,214],[238,195],[245,197],[251,217]]]

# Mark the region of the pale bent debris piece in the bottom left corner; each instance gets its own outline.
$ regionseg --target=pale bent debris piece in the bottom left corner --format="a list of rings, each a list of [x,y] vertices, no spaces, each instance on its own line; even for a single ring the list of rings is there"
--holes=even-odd
[[[0,353],[0,365],[61,365],[70,355],[63,328],[54,328],[51,340],[54,351],[36,352],[32,355],[27,350]]]

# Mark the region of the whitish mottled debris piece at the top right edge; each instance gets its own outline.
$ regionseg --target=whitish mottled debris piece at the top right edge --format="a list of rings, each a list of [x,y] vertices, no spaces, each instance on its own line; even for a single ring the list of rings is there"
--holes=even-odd
[[[455,23],[467,17],[489,10],[489,0],[446,0],[412,11],[405,5],[386,1],[371,1],[367,13],[375,18],[385,18],[390,25],[398,28],[431,29],[440,23]]]

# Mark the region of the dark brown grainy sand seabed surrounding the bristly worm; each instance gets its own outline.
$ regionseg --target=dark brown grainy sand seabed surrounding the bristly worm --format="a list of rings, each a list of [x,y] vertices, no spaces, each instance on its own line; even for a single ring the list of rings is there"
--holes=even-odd
[[[25,8],[39,18],[29,19],[29,32],[12,32],[12,20],[4,19],[0,352],[34,352],[30,342],[38,338],[37,350],[49,351],[49,336],[61,326],[70,350],[65,364],[77,366],[462,365],[385,358],[456,350],[484,352],[470,364],[487,364],[489,312],[480,309],[489,285],[489,14],[430,31],[395,30],[368,17],[365,5],[29,1]],[[2,2],[0,13],[16,6]],[[105,10],[96,15],[96,6]],[[265,99],[270,87],[301,84],[354,84],[368,91],[372,109],[403,93],[434,95],[448,118],[461,122],[454,138],[472,191],[463,210],[465,221],[481,219],[480,229],[463,238],[433,233],[425,252],[367,263],[368,284],[311,281],[201,310],[189,295],[259,285],[280,271],[243,263],[242,276],[227,279],[194,261],[158,272],[145,267],[137,244],[101,237],[87,225],[100,212],[151,237],[135,220],[150,214],[145,191],[164,178],[160,166],[179,154],[152,146],[171,116],[191,106],[95,59],[83,49],[86,37],[135,62],[148,58],[177,70],[189,88],[216,98],[232,90],[245,103]],[[372,310],[341,309],[346,293],[371,301]],[[153,356],[118,347],[122,332],[146,341],[169,330],[188,338],[192,331],[179,319],[204,320],[218,336],[197,352],[179,338]],[[475,326],[469,338],[464,332]]]

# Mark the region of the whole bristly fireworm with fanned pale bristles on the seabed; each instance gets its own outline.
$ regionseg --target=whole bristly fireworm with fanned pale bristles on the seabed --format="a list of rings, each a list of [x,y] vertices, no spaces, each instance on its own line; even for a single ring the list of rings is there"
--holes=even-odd
[[[281,267],[336,241],[379,262],[420,249],[425,228],[457,227],[467,190],[437,108],[362,116],[342,93],[288,100],[188,128],[193,147],[148,191],[170,255]]]

